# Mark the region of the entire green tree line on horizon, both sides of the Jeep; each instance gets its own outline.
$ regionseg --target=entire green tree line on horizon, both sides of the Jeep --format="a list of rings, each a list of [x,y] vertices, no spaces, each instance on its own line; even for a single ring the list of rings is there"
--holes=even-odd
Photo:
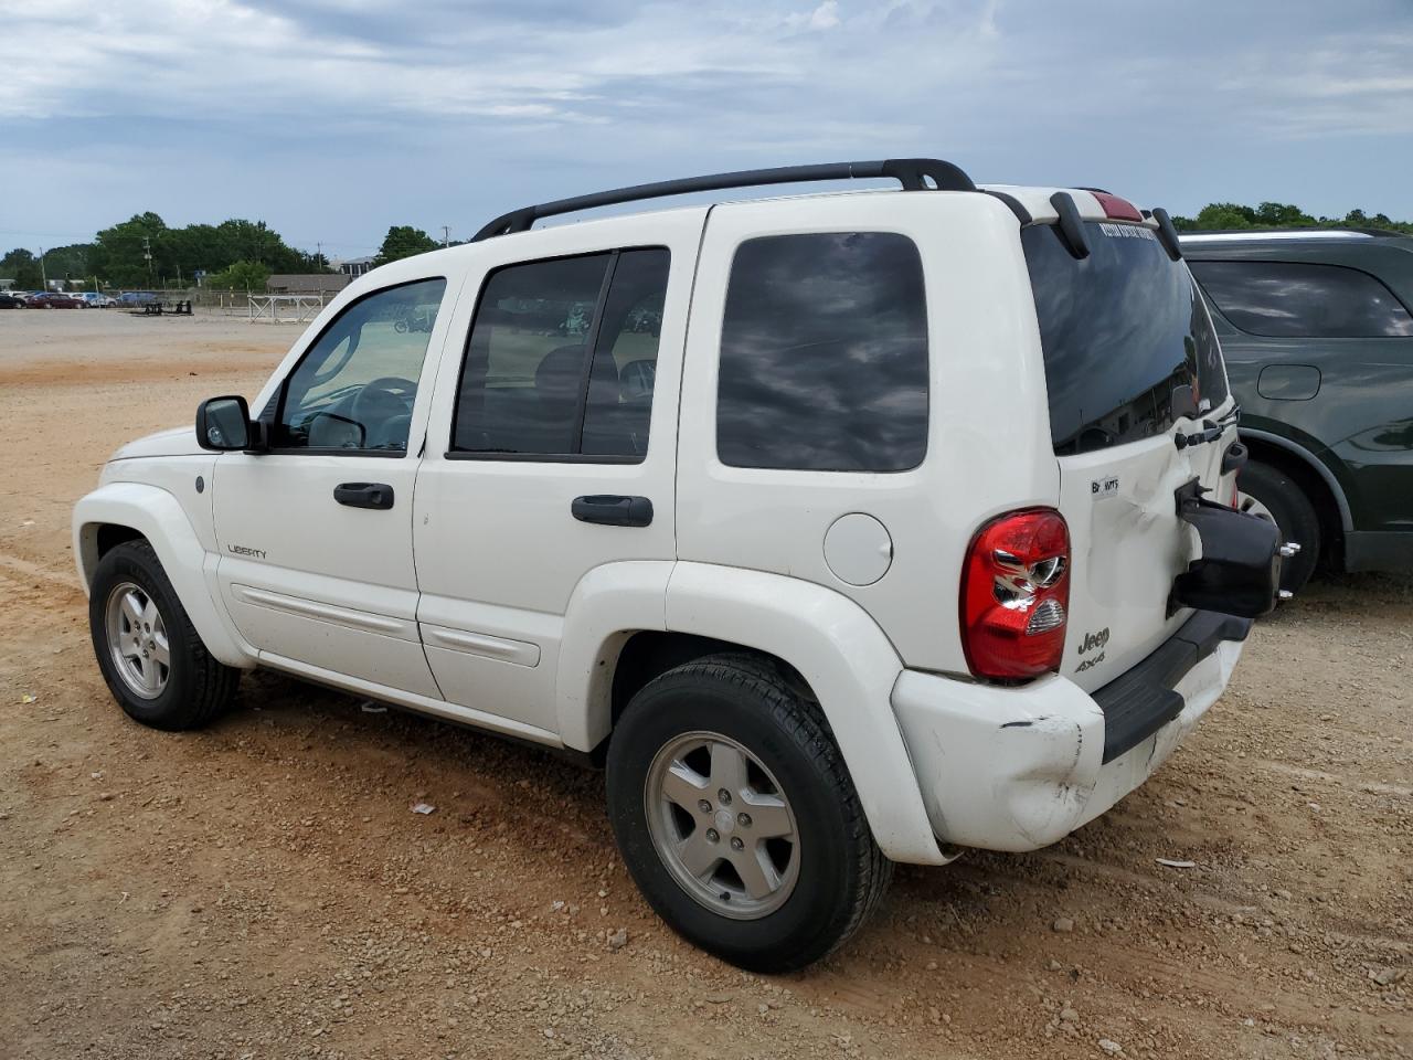
[[[1317,218],[1287,202],[1243,206],[1212,202],[1195,218],[1173,218],[1184,232],[1194,229],[1372,228],[1413,235],[1413,222],[1390,220],[1385,213],[1352,209],[1342,218]],[[393,225],[383,237],[374,266],[397,261],[439,247],[427,232]],[[198,273],[206,287],[263,291],[273,273],[332,273],[328,259],[291,247],[263,220],[223,220],[219,225],[168,228],[157,213],[137,213],[99,232],[92,243],[71,243],[44,252],[44,260],[25,247],[0,259],[0,277],[21,290],[35,290],[44,278],[66,280],[72,287],[146,288],[189,287]]]

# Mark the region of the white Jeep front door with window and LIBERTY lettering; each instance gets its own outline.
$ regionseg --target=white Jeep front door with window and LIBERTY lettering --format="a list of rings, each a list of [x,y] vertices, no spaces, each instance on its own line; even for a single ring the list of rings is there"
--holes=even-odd
[[[348,305],[281,384],[268,452],[218,459],[220,592],[271,666],[441,698],[417,633],[413,486],[447,293],[428,278]]]

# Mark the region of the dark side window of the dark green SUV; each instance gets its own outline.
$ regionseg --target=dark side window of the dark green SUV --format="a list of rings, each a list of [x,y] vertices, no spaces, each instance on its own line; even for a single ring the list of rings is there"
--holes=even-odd
[[[1413,317],[1368,273],[1299,261],[1190,261],[1217,308],[1252,335],[1368,339],[1413,335]]]

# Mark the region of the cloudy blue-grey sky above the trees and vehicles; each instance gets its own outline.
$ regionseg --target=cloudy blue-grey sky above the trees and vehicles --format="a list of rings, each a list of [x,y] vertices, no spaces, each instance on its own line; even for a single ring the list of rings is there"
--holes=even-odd
[[[1413,0],[7,0],[0,252],[143,211],[329,257],[725,170],[941,157],[1413,219]]]

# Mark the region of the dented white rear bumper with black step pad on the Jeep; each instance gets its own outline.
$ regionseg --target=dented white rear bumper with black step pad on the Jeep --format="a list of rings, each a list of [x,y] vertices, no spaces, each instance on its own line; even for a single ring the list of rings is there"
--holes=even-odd
[[[1210,619],[1190,620],[1092,695],[1060,676],[1000,688],[903,671],[893,709],[937,837],[1037,849],[1147,780],[1217,701],[1241,656],[1241,640],[1226,635],[1245,637],[1249,622]]]

